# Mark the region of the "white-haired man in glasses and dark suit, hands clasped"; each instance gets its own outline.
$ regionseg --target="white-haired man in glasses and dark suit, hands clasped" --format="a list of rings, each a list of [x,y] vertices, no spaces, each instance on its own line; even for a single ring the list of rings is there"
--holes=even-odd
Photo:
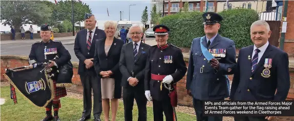
[[[132,110],[135,98],[139,110],[138,120],[144,121],[147,120],[144,68],[147,58],[146,52],[150,46],[141,43],[143,29],[139,25],[133,25],[129,34],[133,42],[122,46],[119,60],[119,70],[123,76],[121,86],[123,87],[124,120],[133,120]]]

